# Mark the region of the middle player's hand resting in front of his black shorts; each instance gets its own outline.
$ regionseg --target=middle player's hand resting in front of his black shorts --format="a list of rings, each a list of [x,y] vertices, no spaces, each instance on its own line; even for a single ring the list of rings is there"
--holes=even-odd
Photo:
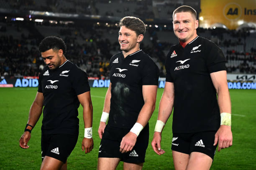
[[[132,133],[132,132],[127,133],[121,141],[120,152],[127,153],[131,151],[133,149],[133,146],[136,143],[136,140],[137,140],[137,135],[135,133]]]

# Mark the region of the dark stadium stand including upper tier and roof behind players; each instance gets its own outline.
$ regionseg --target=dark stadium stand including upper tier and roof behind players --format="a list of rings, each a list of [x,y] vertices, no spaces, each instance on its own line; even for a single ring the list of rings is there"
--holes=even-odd
[[[172,11],[181,1],[152,3],[152,0],[0,0],[3,8],[10,10],[38,10],[54,13],[77,13],[87,15],[114,16],[121,18],[134,15],[140,18],[172,18]],[[120,7],[120,5],[122,7]],[[196,6],[196,5],[195,5]],[[198,5],[197,5],[198,6]],[[198,9],[196,7],[198,11]],[[156,11],[157,10],[157,11]],[[67,18],[69,20],[69,18]],[[67,44],[67,58],[87,72],[89,77],[108,79],[109,60],[119,52],[117,22],[105,20],[69,22],[60,20],[34,21],[15,20],[15,17],[0,19],[0,76],[38,76],[44,62],[38,52],[39,42],[46,36],[61,37]],[[146,35],[141,49],[151,55],[165,76],[165,56],[176,44],[171,21],[155,26],[147,24]],[[256,32],[255,30],[197,29],[198,35],[206,37],[222,48],[230,73],[256,73]]]

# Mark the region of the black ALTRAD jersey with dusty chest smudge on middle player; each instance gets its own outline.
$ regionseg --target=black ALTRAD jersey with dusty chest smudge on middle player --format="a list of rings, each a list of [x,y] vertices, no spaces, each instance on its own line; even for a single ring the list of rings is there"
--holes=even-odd
[[[108,124],[131,128],[144,105],[142,85],[158,85],[159,69],[142,50],[110,59],[111,100]]]

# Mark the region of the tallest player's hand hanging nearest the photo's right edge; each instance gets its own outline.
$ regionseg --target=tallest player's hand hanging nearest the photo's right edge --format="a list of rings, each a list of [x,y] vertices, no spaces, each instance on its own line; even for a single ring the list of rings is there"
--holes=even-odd
[[[213,145],[215,146],[218,143],[218,151],[220,151],[221,149],[232,146],[232,142],[233,142],[233,137],[231,132],[231,126],[220,125],[220,128],[215,134]]]

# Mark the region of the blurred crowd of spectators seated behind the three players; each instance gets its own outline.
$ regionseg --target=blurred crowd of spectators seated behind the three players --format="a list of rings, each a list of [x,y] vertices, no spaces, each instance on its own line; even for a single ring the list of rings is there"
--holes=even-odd
[[[5,23],[6,24],[6,23]],[[23,34],[20,27],[15,22],[6,24],[8,26],[0,27],[0,76],[5,77],[23,77],[38,76],[43,70],[45,64],[38,52],[38,44],[42,39],[35,36],[33,31],[29,34]],[[48,24],[46,24],[48,25]],[[41,27],[52,27],[51,25]],[[13,37],[8,32],[8,28],[17,27],[20,36]],[[40,25],[38,26],[40,28]],[[34,29],[37,29],[35,27]],[[109,61],[112,55],[120,51],[120,45],[116,36],[115,40],[110,40],[105,35],[118,34],[118,26],[106,26],[97,24],[65,25],[58,26],[59,34],[67,45],[65,56],[68,60],[74,62],[82,70],[87,72],[88,77],[98,77],[100,79],[109,78]],[[147,27],[147,35],[150,42],[141,43],[140,48],[148,53],[160,70],[160,77],[165,77],[165,57],[169,48],[173,45],[168,41],[161,41],[158,33],[161,29]],[[169,30],[172,32],[173,30]],[[39,32],[37,30],[37,32]],[[210,32],[209,37],[223,49],[226,57],[226,67],[229,73],[251,73],[256,74],[256,48],[251,47],[246,50],[246,38],[250,37],[249,32],[228,31],[228,30],[206,30],[199,28],[198,34]],[[44,33],[41,32],[41,37]],[[255,33],[254,33],[255,34]],[[225,38],[227,37],[228,38]],[[255,36],[255,35],[254,35]],[[255,44],[255,42],[254,42]],[[243,47],[237,49],[237,47]]]

